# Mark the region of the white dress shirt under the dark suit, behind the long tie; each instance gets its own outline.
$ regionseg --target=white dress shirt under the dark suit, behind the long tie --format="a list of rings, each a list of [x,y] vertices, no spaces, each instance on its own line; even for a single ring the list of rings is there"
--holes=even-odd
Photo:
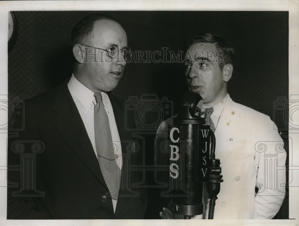
[[[68,81],[68,89],[73,97],[73,100],[77,106],[81,119],[84,123],[85,129],[87,131],[89,140],[94,149],[94,154],[97,156],[97,150],[95,146],[95,138],[94,138],[94,106],[97,104],[94,98],[94,92],[88,89],[86,86],[81,84],[74,75],[71,76],[70,81]],[[112,109],[111,102],[109,100],[108,95],[105,92],[101,92],[103,104],[108,115],[109,125],[111,130],[112,142],[117,151],[115,154],[118,156],[116,162],[118,167],[121,169],[122,166],[122,152],[120,146],[120,138],[115,122],[115,117]],[[74,122],[75,123],[75,122]],[[102,195],[102,194],[99,194]],[[115,212],[117,200],[112,199],[113,209]]]

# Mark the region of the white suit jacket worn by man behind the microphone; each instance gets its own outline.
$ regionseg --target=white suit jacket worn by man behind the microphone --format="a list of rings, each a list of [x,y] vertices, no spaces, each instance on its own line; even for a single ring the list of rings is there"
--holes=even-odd
[[[273,218],[283,202],[286,182],[286,151],[274,122],[228,97],[215,137],[223,182],[214,219]],[[192,219],[207,218],[208,200],[204,202],[205,214]]]

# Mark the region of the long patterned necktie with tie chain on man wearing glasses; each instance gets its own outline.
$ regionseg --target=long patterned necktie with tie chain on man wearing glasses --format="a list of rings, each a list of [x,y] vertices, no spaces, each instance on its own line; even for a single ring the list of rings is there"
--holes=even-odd
[[[104,108],[102,94],[95,93],[94,97],[97,101],[94,106],[94,137],[97,160],[112,199],[117,200],[121,170],[116,164],[109,119]]]

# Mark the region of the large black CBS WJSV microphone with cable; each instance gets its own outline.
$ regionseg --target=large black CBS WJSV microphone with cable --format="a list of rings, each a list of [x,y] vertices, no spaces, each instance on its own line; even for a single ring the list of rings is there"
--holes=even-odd
[[[220,160],[215,159],[215,135],[201,117],[202,104],[198,93],[187,91],[181,98],[178,117],[169,125],[172,212],[184,215],[184,219],[204,213],[203,182],[207,182],[210,198],[208,219],[213,219],[223,182]]]

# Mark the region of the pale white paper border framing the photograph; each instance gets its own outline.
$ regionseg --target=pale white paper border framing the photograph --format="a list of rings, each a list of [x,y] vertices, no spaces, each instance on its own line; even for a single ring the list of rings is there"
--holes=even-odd
[[[213,11],[288,11],[289,12],[289,97],[299,95],[299,2],[298,1],[3,1],[0,3],[0,50],[1,85],[0,95],[7,95],[7,24],[9,11],[54,11],[54,10],[213,10]],[[298,114],[297,114],[298,115]],[[2,119],[1,119],[2,120]],[[5,119],[4,119],[5,120]],[[7,119],[6,119],[7,120]],[[295,125],[299,125],[299,117]],[[293,120],[293,121],[294,121]],[[289,130],[292,150],[299,150],[299,129]],[[7,174],[7,134],[0,132],[0,179],[5,184]],[[299,153],[289,150],[289,181],[291,171],[299,170]],[[291,165],[292,164],[292,165]],[[298,174],[298,173],[297,173]],[[297,175],[296,174],[296,175]],[[7,190],[0,187],[0,225],[299,225],[299,187],[289,187],[289,218],[286,220],[6,220]]]

